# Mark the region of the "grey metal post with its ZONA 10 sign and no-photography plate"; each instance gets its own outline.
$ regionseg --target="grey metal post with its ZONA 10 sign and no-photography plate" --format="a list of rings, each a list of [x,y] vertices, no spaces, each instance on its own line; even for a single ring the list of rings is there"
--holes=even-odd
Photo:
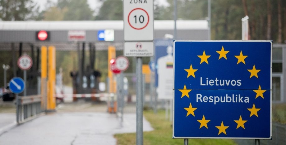
[[[153,0],[123,0],[124,56],[136,58],[136,145],[143,145],[142,57],[154,56]],[[144,42],[143,42],[144,41]]]

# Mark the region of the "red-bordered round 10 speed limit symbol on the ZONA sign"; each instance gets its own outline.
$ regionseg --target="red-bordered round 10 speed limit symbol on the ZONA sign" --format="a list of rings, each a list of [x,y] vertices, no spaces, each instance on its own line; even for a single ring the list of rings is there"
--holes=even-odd
[[[148,12],[142,8],[135,8],[128,14],[128,24],[136,30],[144,29],[148,25],[149,19]]]

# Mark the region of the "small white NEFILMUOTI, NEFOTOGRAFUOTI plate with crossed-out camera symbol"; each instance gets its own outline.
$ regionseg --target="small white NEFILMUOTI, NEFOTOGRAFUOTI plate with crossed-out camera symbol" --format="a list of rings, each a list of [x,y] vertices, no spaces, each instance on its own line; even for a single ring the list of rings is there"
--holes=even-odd
[[[154,56],[153,42],[125,42],[124,56],[150,57]]]

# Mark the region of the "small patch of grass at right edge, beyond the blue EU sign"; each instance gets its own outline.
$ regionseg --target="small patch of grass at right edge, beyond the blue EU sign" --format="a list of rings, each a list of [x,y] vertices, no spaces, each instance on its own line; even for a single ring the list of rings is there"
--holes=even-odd
[[[272,121],[286,124],[286,104],[272,104]]]

